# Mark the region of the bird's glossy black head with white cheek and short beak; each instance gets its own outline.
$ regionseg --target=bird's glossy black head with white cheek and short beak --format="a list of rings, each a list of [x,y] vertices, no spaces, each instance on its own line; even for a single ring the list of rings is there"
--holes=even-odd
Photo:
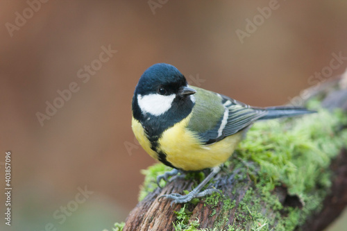
[[[144,71],[133,96],[133,115],[135,119],[160,117],[192,110],[196,90],[188,87],[185,76],[172,65],[155,64]],[[181,117],[181,116],[180,116]],[[171,118],[172,119],[172,118]]]

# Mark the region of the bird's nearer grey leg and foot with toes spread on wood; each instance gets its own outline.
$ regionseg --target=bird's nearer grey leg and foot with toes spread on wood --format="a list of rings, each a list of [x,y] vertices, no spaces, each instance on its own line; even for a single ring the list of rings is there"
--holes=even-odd
[[[187,195],[165,194],[165,195],[160,196],[159,198],[165,197],[165,198],[171,199],[172,200],[171,205],[173,205],[173,203],[187,203],[190,200],[192,200],[193,198],[203,197],[203,196],[210,195],[214,192],[219,192],[219,190],[217,190],[217,189],[206,189],[204,191],[201,191],[201,189],[203,189],[203,187],[214,176],[216,176],[216,174],[219,173],[220,170],[221,170],[220,166],[212,168],[211,173],[195,189],[190,191],[189,194],[187,194]]]

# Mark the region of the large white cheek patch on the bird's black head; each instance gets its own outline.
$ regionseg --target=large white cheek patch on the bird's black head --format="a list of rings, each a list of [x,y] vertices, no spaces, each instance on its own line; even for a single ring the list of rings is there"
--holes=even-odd
[[[176,98],[176,94],[162,96],[160,94],[148,94],[146,96],[138,95],[137,102],[142,113],[149,113],[156,117],[164,114],[171,108],[171,104]]]

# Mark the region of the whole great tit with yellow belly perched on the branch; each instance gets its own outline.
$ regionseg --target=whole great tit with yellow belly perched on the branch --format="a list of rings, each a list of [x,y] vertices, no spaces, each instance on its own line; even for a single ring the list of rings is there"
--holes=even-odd
[[[187,203],[218,191],[203,187],[219,173],[257,120],[313,113],[294,106],[259,108],[223,94],[190,86],[173,65],[157,63],[139,78],[132,101],[132,130],[155,160],[173,168],[158,176],[211,169],[189,194],[164,194],[173,203]]]

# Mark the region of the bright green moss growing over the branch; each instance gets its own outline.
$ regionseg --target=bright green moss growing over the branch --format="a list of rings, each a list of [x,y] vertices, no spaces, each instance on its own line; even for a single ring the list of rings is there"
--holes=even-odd
[[[347,130],[341,130],[342,124],[347,124],[346,114],[321,109],[303,117],[255,123],[225,164],[237,171],[236,188],[245,180],[254,182],[254,187],[246,191],[238,205],[219,194],[204,198],[205,204],[212,209],[223,205],[224,211],[237,206],[237,225],[228,225],[228,230],[294,230],[312,212],[321,209],[323,198],[329,193],[332,175],[328,166],[347,144]],[[158,174],[169,170],[163,164],[155,164],[144,171],[146,178],[140,198],[157,187]],[[191,177],[203,178],[201,175]],[[278,186],[286,187],[289,195],[296,196],[302,208],[282,205],[273,192]],[[266,211],[274,211],[274,214],[269,216]],[[218,230],[226,223],[228,217],[224,216],[215,222],[214,228]]]

